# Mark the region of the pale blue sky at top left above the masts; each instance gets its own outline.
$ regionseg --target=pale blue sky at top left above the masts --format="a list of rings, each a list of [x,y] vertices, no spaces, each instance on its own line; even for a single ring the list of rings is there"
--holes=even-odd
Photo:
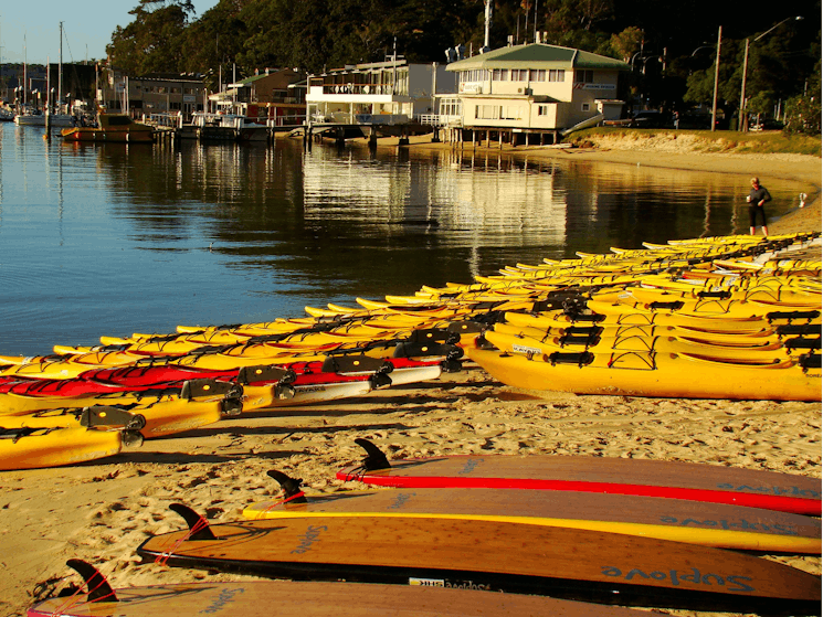
[[[219,0],[192,0],[200,18]],[[0,3],[0,61],[45,64],[60,60],[63,22],[63,62],[106,57],[112,32],[128,25],[137,0],[33,0]]]

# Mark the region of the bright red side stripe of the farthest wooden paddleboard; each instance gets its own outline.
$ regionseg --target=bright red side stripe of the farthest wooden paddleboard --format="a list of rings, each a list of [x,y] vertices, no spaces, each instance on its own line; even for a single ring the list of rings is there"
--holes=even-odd
[[[569,490],[577,492],[603,492],[613,494],[636,494],[643,497],[664,497],[669,499],[689,499],[707,503],[730,503],[749,508],[763,508],[778,512],[820,517],[821,502],[816,499],[757,494],[727,490],[688,489],[677,487],[655,487],[647,485],[629,485],[616,482],[585,482],[572,480],[537,480],[516,478],[454,478],[371,476],[338,471],[339,480],[359,480],[381,487],[434,489],[434,488],[486,488],[486,489],[531,489],[531,490]]]

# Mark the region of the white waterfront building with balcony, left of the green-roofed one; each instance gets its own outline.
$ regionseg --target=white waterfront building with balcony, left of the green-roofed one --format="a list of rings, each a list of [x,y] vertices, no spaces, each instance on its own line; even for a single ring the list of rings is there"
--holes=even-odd
[[[400,125],[435,114],[435,94],[456,93],[454,74],[437,63],[402,57],[309,75],[306,111],[313,123]]]

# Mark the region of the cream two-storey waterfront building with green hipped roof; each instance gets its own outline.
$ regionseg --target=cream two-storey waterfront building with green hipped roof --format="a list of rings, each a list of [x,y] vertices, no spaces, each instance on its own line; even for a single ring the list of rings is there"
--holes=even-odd
[[[580,123],[620,118],[619,60],[544,43],[514,45],[453,62],[457,96],[441,109],[463,128],[557,132]]]

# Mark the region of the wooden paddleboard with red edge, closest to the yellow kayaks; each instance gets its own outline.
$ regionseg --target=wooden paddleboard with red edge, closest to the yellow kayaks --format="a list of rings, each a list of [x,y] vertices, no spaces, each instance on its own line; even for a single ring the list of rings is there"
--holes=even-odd
[[[608,492],[821,515],[821,479],[695,462],[587,456],[447,456],[392,460],[370,442],[341,480],[399,488],[506,488]],[[382,458],[381,458],[382,457]]]

